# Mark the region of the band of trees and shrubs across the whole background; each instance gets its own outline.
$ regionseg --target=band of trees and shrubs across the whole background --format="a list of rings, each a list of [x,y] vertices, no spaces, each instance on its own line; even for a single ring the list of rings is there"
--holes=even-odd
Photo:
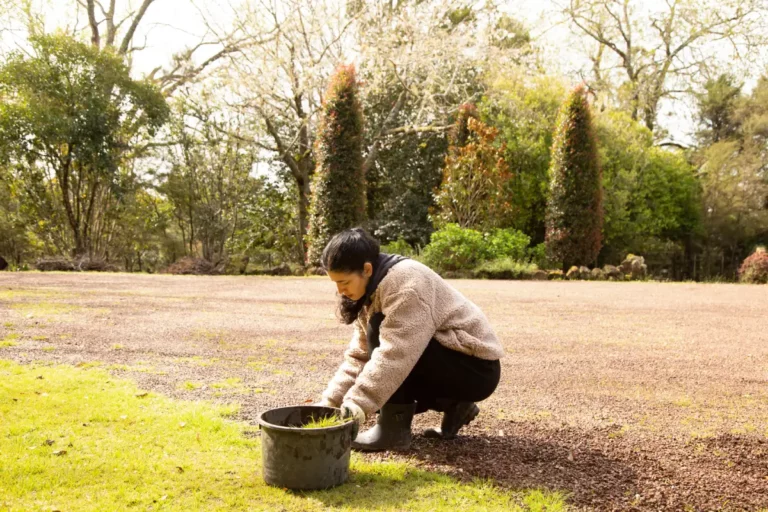
[[[555,267],[553,142],[577,81],[602,190],[602,243],[580,263],[635,253],[674,278],[732,278],[768,242],[768,79],[736,78],[764,69],[759,2],[574,0],[560,15],[584,48],[579,77],[491,2],[243,2],[226,30],[211,22],[137,76],[155,1],[73,1],[88,23],[47,33],[45,10],[2,4],[26,34],[0,67],[0,255],[14,266],[66,256],[159,271],[191,256],[231,272],[296,268],[328,235],[322,221],[363,224],[437,266],[458,258],[458,228]],[[359,111],[342,119],[329,98],[352,60]],[[695,105],[692,144],[663,123],[671,100]],[[333,139],[345,119],[354,141]],[[351,188],[313,205],[334,147]],[[318,217],[347,197],[354,213]]]

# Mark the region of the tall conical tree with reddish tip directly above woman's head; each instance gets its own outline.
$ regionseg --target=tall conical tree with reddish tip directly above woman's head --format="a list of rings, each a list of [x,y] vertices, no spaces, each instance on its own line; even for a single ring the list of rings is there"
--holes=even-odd
[[[307,240],[310,264],[320,261],[333,235],[365,220],[362,125],[355,68],[341,66],[328,85],[317,139]]]

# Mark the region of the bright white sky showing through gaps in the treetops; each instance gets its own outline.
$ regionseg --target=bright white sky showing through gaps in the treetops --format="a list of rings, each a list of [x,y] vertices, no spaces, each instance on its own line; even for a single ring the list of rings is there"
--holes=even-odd
[[[32,0],[36,9],[46,13],[46,30],[54,30],[62,24],[85,27],[87,17],[84,11],[79,19],[72,15],[75,0]],[[117,0],[118,6],[136,8],[141,0]],[[240,0],[155,0],[150,6],[145,19],[134,39],[137,45],[145,46],[135,52],[133,71],[137,76],[148,74],[158,66],[167,65],[173,54],[199,42],[206,32],[204,19],[209,20],[222,31],[230,26],[237,16],[236,4]],[[340,0],[341,1],[341,0]],[[459,2],[456,0],[457,4]],[[510,15],[524,20],[531,29],[534,40],[544,49],[545,59],[558,66],[559,71],[576,80],[576,70],[585,67],[588,62],[583,51],[583,43],[575,38],[568,26],[562,23],[558,15],[558,0],[497,0],[500,8]],[[562,0],[561,0],[562,1]],[[106,0],[105,0],[106,2]],[[643,6],[653,8],[664,0],[644,0]],[[19,34],[0,34],[0,44],[19,43]],[[214,51],[208,49],[207,51]],[[201,57],[205,51],[201,51]],[[748,77],[747,87],[755,77]],[[691,133],[695,131],[692,105],[670,103],[663,104],[659,114],[659,124],[674,134],[676,142],[692,142]]]

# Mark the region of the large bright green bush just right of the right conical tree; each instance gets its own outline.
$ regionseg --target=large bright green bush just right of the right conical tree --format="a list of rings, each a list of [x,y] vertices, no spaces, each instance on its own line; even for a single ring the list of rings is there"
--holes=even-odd
[[[629,114],[597,117],[603,174],[603,248],[617,264],[628,253],[652,266],[682,264],[685,246],[701,231],[699,185],[679,151],[653,145],[651,132]]]

